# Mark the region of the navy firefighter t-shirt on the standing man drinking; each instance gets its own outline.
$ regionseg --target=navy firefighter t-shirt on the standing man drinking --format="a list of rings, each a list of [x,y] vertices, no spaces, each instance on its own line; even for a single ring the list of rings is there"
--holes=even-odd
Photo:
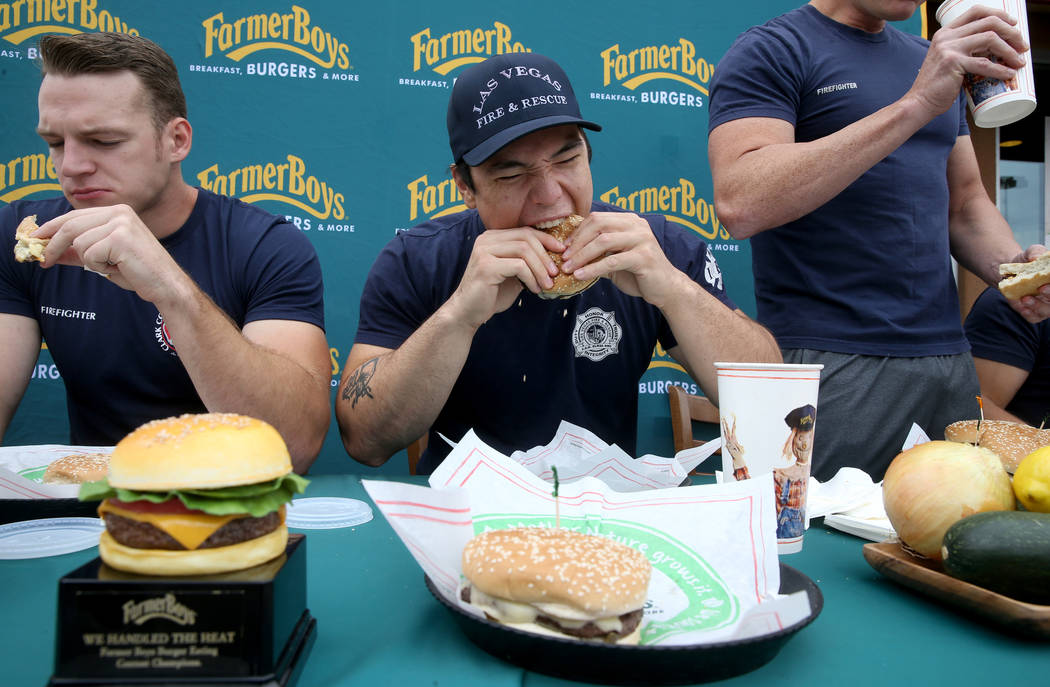
[[[900,99],[928,41],[804,5],[742,34],[718,63],[709,129],[748,117],[814,141]],[[751,240],[758,320],[781,348],[879,356],[967,350],[948,246],[947,161],[962,98],[814,212]],[[755,184],[762,180],[756,179]]]

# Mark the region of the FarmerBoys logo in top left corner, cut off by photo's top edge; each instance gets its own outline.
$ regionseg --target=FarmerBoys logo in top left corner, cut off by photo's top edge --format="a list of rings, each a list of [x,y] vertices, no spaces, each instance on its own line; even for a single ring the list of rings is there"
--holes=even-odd
[[[80,34],[82,32],[120,32],[139,35],[139,29],[99,8],[99,0],[15,0],[0,3],[0,38],[21,45],[41,34]],[[36,48],[25,57],[36,57]],[[10,57],[22,58],[22,54]]]

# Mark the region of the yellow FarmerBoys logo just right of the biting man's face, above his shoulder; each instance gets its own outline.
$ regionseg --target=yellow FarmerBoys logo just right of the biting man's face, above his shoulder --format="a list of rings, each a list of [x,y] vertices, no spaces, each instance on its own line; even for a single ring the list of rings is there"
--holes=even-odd
[[[634,190],[614,186],[602,193],[601,197],[606,203],[631,212],[663,214],[708,241],[724,241],[730,237],[726,227],[718,222],[714,204],[697,197],[696,185],[688,179],[679,179],[674,186],[650,186]],[[726,247],[720,249],[727,250]]]

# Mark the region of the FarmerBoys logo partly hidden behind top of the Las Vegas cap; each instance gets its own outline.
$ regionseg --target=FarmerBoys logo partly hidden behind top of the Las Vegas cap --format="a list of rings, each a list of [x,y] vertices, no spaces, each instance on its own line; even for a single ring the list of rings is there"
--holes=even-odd
[[[445,34],[437,34],[427,26],[413,34],[408,42],[412,45],[412,76],[401,77],[398,84],[424,88],[450,88],[454,81],[429,78],[427,71],[448,77],[456,69],[483,62],[494,55],[532,51],[514,40],[509,26],[498,21],[491,26],[464,26]]]

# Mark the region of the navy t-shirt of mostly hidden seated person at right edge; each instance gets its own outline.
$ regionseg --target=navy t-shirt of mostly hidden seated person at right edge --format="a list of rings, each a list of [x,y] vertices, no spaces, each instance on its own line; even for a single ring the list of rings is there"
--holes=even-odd
[[[1006,410],[1038,426],[1050,414],[1050,320],[1032,325],[990,287],[966,317],[966,337],[973,357],[1028,373]]]

